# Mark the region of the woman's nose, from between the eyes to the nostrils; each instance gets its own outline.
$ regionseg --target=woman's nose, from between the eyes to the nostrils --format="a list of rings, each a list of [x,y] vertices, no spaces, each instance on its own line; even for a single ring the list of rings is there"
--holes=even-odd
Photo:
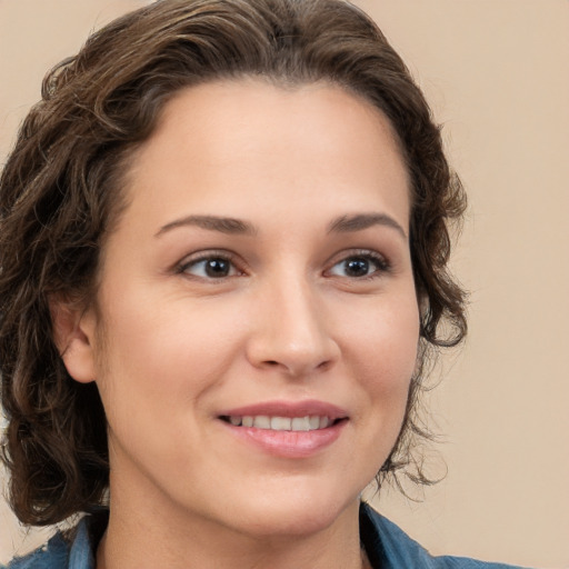
[[[326,302],[302,279],[267,286],[256,299],[247,357],[257,368],[306,377],[329,369],[340,348]]]

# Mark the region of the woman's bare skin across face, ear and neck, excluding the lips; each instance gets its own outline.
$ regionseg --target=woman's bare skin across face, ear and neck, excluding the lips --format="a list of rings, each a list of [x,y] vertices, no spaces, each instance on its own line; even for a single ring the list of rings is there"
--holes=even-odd
[[[109,423],[98,567],[362,567],[359,495],[401,428],[419,337],[408,178],[388,120],[328,84],[202,84],[166,106],[127,194],[97,310],[56,310],[68,370],[97,381]],[[376,217],[330,230],[359,214]],[[209,276],[203,254],[227,276]],[[219,418],[305,400],[347,419],[302,458]]]

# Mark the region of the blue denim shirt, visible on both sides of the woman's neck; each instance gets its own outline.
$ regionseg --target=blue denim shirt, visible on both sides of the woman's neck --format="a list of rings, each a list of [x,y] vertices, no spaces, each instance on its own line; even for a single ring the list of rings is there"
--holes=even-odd
[[[83,518],[69,543],[61,533],[29,556],[14,559],[3,569],[96,569],[94,548]],[[506,569],[512,566],[487,563],[465,557],[432,557],[395,523],[368,505],[360,507],[360,538],[373,569]]]

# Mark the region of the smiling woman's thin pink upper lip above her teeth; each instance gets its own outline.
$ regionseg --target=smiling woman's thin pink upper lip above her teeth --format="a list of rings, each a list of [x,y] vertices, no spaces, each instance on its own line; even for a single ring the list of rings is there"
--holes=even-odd
[[[336,405],[326,401],[264,401],[228,409],[220,417],[328,417],[330,420],[343,419],[348,413]]]

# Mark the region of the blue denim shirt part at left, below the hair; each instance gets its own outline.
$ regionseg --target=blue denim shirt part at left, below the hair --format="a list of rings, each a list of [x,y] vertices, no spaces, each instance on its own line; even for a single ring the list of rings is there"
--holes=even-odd
[[[94,569],[91,517],[83,518],[70,537],[56,533],[43,547],[12,559],[1,569]]]

